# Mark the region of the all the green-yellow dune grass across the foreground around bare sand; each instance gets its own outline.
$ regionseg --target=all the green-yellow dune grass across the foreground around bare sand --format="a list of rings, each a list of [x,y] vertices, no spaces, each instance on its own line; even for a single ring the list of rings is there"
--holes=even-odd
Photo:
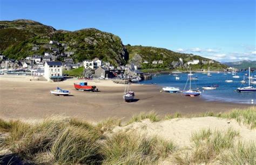
[[[233,110],[226,113],[206,112],[193,116],[216,116],[235,119],[249,128],[255,128],[255,107]],[[180,113],[167,114],[164,120],[181,118]],[[160,118],[154,112],[140,113],[128,123]],[[228,128],[223,130],[203,129],[191,135],[192,146],[179,148],[172,141],[155,135],[141,134],[125,128],[121,120],[110,118],[96,125],[86,121],[49,117],[38,123],[24,123],[20,120],[0,120],[0,131],[6,136],[0,138],[0,148],[9,149],[24,162],[68,163],[68,164],[157,164],[167,161],[172,164],[255,164],[254,142],[239,140],[239,132]],[[0,160],[1,161],[1,160]]]

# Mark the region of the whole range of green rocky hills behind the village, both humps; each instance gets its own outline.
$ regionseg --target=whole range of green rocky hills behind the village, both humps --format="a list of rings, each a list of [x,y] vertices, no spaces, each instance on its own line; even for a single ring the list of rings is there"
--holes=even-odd
[[[51,40],[57,41],[57,44],[49,44]],[[44,52],[52,53],[60,61],[68,52],[76,62],[99,58],[109,61],[114,66],[128,62],[135,63],[144,69],[171,67],[184,69],[188,67],[187,61],[210,60],[198,55],[177,53],[164,48],[124,46],[117,35],[95,28],[71,32],[56,30],[33,20],[0,21],[0,53],[10,59],[20,60],[35,54],[43,55]],[[179,58],[183,59],[183,63],[180,63]],[[163,60],[163,64],[153,65],[152,61],[154,60]],[[149,61],[149,64],[144,64],[144,61]],[[225,67],[217,61],[214,64],[200,63],[191,67],[192,69],[206,69],[209,66],[211,69]]]

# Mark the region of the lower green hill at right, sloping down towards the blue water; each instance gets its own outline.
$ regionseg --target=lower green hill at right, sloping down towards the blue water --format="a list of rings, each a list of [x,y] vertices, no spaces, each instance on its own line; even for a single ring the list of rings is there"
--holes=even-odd
[[[201,63],[202,60],[210,61],[211,59],[203,58],[199,55],[194,54],[185,54],[170,51],[165,48],[157,48],[150,46],[131,46],[126,45],[127,51],[129,53],[129,62],[135,63],[143,69],[148,68],[179,68],[179,69],[187,69],[187,62],[191,60],[199,60],[199,64],[191,65],[192,69],[207,69],[210,67],[211,69],[220,69],[226,68],[225,65],[220,64],[218,61],[214,61],[214,63]],[[182,59],[181,62],[179,59]],[[163,64],[152,64],[152,61],[163,60]],[[148,63],[144,63],[147,61]]]

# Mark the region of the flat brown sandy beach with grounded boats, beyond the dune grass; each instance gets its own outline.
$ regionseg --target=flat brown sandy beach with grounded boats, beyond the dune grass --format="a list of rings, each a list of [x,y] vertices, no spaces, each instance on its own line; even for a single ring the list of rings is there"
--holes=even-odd
[[[32,81],[30,81],[32,80]],[[156,85],[132,84],[136,100],[124,102],[123,84],[111,80],[90,80],[99,92],[78,91],[73,88],[75,78],[59,82],[58,86],[70,90],[71,96],[53,96],[50,90],[57,82],[36,81],[30,76],[0,76],[0,118],[4,119],[42,119],[62,114],[89,121],[99,121],[110,117],[129,119],[140,112],[155,111],[160,116],[168,113],[193,114],[201,112],[225,112],[251,105],[224,102],[206,102],[200,97],[185,97],[181,94],[159,92]]]

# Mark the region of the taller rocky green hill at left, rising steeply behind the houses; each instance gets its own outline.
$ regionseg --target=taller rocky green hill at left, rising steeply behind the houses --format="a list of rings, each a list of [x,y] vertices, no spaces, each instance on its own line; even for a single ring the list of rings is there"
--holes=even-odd
[[[50,40],[64,46],[49,45]],[[9,58],[43,55],[44,52],[53,52],[53,48],[58,48],[59,54],[64,53],[64,50],[73,52],[72,58],[75,61],[97,57],[117,66],[125,64],[129,59],[126,48],[117,35],[95,28],[70,32],[56,30],[32,20],[0,21],[0,52]]]

